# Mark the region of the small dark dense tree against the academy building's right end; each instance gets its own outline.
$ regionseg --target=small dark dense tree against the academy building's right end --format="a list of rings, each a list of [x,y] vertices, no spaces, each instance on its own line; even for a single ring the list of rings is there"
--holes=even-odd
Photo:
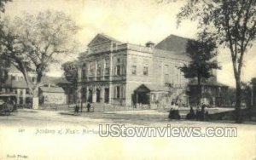
[[[218,49],[213,39],[207,37],[207,33],[204,32],[197,41],[189,39],[186,52],[189,54],[191,61],[189,65],[180,67],[180,70],[186,78],[197,78],[199,103],[201,100],[201,79],[212,77],[212,70],[220,69],[217,60],[214,60],[218,54]]]

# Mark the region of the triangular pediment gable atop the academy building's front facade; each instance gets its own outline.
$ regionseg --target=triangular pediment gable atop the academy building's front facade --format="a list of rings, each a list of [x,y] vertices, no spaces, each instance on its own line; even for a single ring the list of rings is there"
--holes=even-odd
[[[114,39],[113,37],[109,37],[108,35],[105,35],[103,33],[97,34],[96,37],[94,37],[90,43],[88,44],[89,47],[95,46],[101,43],[121,43],[119,40]]]

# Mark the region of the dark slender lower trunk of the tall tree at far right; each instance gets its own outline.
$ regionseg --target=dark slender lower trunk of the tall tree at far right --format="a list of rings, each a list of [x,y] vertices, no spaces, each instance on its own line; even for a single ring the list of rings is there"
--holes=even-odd
[[[241,115],[241,82],[240,77],[236,77],[236,114],[235,114],[236,123],[242,122]]]

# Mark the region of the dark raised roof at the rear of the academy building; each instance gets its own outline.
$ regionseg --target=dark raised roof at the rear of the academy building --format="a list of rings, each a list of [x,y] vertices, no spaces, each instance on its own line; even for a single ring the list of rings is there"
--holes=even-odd
[[[189,38],[170,35],[155,45],[156,49],[172,51],[176,54],[185,54]]]

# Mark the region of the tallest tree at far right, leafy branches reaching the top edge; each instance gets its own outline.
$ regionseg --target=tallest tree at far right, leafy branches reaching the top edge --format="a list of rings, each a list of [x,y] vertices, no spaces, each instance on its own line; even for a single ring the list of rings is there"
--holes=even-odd
[[[255,40],[256,1],[190,0],[177,14],[177,24],[183,19],[198,20],[199,28],[230,49],[236,79],[236,123],[241,123],[241,70],[244,55]]]

